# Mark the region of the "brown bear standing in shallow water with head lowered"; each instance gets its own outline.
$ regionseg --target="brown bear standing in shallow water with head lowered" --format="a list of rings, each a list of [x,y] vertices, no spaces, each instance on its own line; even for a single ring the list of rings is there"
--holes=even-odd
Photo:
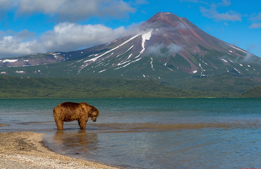
[[[80,128],[85,130],[86,122],[90,117],[92,121],[96,121],[99,116],[99,110],[85,102],[73,103],[64,102],[53,109],[53,117],[57,126],[57,130],[64,130],[64,121],[77,120]]]

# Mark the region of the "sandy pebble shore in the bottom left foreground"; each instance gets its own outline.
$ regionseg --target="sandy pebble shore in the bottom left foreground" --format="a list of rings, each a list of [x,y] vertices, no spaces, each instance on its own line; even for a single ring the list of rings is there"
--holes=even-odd
[[[44,145],[42,133],[0,133],[1,168],[87,168],[119,169],[53,152]]]

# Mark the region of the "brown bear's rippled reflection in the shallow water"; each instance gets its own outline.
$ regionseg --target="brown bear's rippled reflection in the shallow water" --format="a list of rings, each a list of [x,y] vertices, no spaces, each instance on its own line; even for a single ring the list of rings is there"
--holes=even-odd
[[[88,133],[86,130],[72,132],[68,130],[57,130],[53,136],[52,146],[55,152],[65,152],[65,154],[91,154],[98,149],[98,138],[96,133]],[[51,148],[52,149],[52,148]]]

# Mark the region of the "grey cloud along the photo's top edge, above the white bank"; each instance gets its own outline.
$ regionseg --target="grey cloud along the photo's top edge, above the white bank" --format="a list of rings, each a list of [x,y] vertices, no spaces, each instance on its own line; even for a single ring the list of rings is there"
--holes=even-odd
[[[17,8],[17,14],[49,14],[57,21],[78,21],[90,16],[128,17],[136,11],[123,0],[0,0],[0,11]]]

